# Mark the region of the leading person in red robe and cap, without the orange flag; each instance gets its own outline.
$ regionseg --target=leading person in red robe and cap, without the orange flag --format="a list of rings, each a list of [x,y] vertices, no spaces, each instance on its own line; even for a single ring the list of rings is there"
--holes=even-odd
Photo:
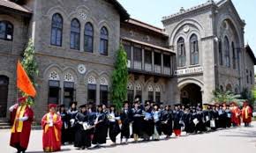
[[[18,99],[19,104],[10,107],[10,112],[15,116],[11,127],[10,145],[18,150],[18,153],[24,153],[27,149],[31,125],[34,119],[34,112],[26,104],[26,97]]]

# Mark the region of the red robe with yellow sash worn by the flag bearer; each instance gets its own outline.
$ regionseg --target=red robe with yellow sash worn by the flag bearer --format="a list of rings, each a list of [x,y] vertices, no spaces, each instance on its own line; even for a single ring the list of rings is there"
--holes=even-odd
[[[16,149],[27,149],[29,136],[31,132],[31,125],[33,122],[34,112],[29,106],[19,106],[14,108],[12,113],[15,113],[15,119],[11,127],[11,147]],[[22,117],[28,117],[27,120],[18,120]]]

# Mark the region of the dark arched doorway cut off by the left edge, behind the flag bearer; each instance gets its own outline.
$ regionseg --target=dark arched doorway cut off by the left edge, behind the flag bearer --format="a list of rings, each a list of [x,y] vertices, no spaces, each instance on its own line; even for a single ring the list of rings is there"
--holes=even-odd
[[[0,118],[6,117],[9,78],[0,76]]]

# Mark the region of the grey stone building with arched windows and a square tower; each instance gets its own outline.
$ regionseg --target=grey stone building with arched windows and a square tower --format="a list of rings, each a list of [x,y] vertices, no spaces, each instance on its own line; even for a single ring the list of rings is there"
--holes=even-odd
[[[196,104],[210,101],[216,88],[252,89],[256,59],[230,0],[181,9],[162,23],[164,29],[130,18],[117,0],[1,0],[0,118],[16,101],[16,62],[29,39],[39,65],[37,120],[49,102],[109,104],[120,43],[130,101]]]

